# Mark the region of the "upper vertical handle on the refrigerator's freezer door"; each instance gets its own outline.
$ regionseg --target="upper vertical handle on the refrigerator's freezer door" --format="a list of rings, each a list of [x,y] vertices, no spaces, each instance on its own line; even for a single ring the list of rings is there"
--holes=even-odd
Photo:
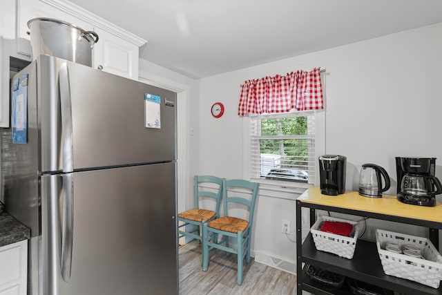
[[[63,149],[63,172],[73,172],[73,124],[70,98],[68,64],[61,64],[59,70],[60,106],[61,106],[61,146]]]

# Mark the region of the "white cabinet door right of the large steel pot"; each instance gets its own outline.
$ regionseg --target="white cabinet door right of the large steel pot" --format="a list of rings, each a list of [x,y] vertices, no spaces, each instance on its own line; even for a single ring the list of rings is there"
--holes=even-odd
[[[99,40],[94,46],[94,67],[138,79],[138,46],[99,28],[95,32]]]

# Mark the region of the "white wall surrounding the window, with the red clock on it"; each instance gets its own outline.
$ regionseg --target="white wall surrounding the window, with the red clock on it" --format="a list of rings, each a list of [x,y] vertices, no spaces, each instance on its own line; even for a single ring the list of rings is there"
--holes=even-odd
[[[237,115],[240,84],[320,66],[327,70],[325,152],[347,156],[347,189],[357,190],[361,165],[374,162],[390,174],[387,193],[396,193],[395,156],[436,157],[436,176],[442,178],[441,36],[442,23],[437,23],[200,79],[198,97],[189,106],[196,116],[195,158],[189,161],[193,170],[224,178],[247,176],[242,163],[249,157],[243,153],[248,119]],[[218,101],[225,113],[214,119],[210,108]],[[296,260],[294,243],[280,233],[282,219],[295,225],[294,198],[260,196],[252,245],[256,251]]]

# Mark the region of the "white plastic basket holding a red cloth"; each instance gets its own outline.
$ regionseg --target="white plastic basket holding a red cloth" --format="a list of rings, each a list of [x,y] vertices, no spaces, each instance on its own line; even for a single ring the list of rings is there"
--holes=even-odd
[[[320,231],[319,227],[323,221],[348,222],[349,224],[353,225],[354,235],[351,238]],[[354,249],[356,248],[356,241],[358,240],[359,234],[358,222],[330,216],[319,216],[313,227],[311,227],[310,232],[311,236],[313,236],[316,249],[319,251],[333,253],[348,259],[353,258]]]

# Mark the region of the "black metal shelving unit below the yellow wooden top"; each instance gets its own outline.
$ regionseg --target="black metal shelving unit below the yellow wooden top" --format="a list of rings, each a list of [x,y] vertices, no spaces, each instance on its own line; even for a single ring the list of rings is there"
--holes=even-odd
[[[302,197],[302,196],[301,196]],[[328,204],[318,204],[306,202],[302,198],[296,200],[296,240],[301,241],[301,222],[302,222],[302,207],[308,207],[310,209],[310,224],[313,225],[316,219],[316,209],[325,211],[334,211],[339,213],[346,213],[354,216],[363,216],[376,218],[381,220],[390,220],[394,222],[402,222],[410,225],[420,225],[428,227],[430,231],[430,240],[432,240],[436,249],[439,249],[439,229],[442,229],[441,222],[418,220],[416,218],[407,218],[407,216],[393,216],[385,213],[376,213],[370,211],[354,210],[349,208],[342,208],[336,206],[330,206]],[[300,200],[301,199],[301,200]],[[410,205],[411,206],[411,205]],[[327,269],[331,272],[336,272],[361,280],[365,283],[390,289],[392,291],[400,292],[402,294],[410,295],[442,295],[442,287],[434,289],[426,285],[422,285],[412,280],[405,280],[402,278],[396,278],[395,276],[387,276],[383,272],[381,260],[378,255],[375,242],[369,242],[359,239],[356,243],[356,249],[354,257],[352,259],[342,258],[335,254],[330,254],[325,251],[317,251],[314,245],[314,240],[309,234],[305,241],[297,242],[296,244],[296,263],[297,263],[297,276],[298,286],[297,294],[301,295],[302,290],[311,292],[313,294],[338,294],[347,295],[352,294],[349,289],[343,287],[342,289],[329,287],[324,284],[317,283],[311,280],[305,273],[305,267],[302,267],[302,263],[315,265],[323,269]]]

